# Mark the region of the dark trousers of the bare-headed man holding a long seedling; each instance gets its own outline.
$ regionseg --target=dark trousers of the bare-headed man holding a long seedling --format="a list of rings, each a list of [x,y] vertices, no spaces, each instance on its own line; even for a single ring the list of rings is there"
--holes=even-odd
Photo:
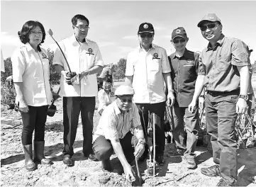
[[[63,153],[72,156],[73,145],[77,135],[79,113],[81,111],[83,127],[83,153],[88,157],[92,153],[92,130],[95,97],[63,97],[64,149]]]

